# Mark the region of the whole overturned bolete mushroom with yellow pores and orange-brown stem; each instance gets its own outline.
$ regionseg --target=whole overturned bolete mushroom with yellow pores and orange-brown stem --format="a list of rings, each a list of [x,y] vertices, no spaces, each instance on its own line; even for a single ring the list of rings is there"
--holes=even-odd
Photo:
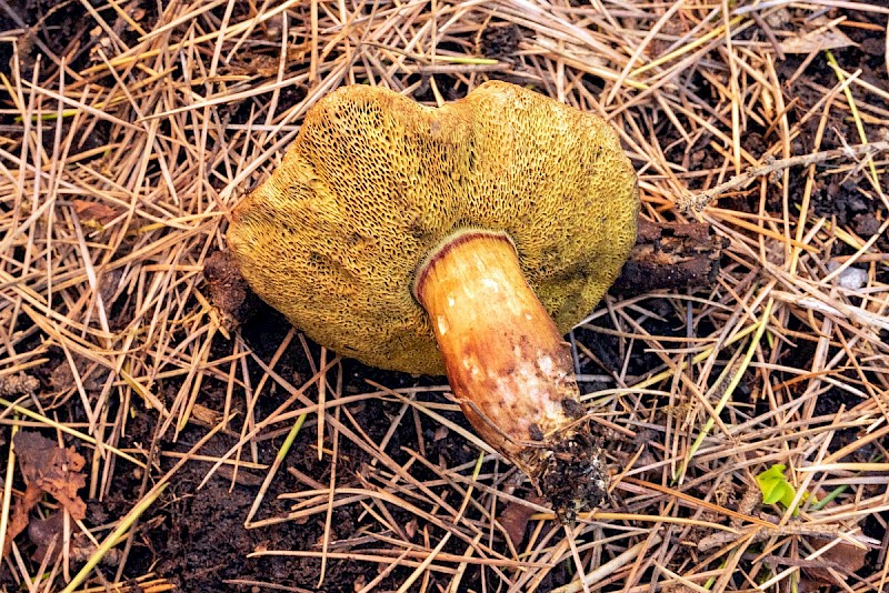
[[[638,209],[597,115],[505,82],[438,109],[352,86],[306,115],[228,240],[316,342],[447,373],[476,431],[571,521],[607,474],[562,335],[620,271]]]

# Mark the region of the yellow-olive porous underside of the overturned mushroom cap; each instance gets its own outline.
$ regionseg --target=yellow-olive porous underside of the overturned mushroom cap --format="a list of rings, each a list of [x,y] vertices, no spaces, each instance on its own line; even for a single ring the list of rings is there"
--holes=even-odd
[[[467,229],[505,232],[565,333],[636,241],[636,172],[601,118],[490,81],[438,109],[343,87],[306,115],[228,241],[252,289],[316,342],[366,364],[443,374],[418,267]]]

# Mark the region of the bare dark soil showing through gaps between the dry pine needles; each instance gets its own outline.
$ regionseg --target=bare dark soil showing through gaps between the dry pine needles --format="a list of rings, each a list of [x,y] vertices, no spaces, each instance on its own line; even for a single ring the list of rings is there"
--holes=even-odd
[[[27,24],[34,26],[38,21],[40,26],[36,28],[36,33],[30,39],[30,51],[22,52],[22,59],[26,61],[24,71],[32,73],[37,68],[37,54],[40,52],[39,43],[48,44],[53,52],[58,54],[72,54],[76,57],[71,67],[77,68],[82,66],[88,59],[89,50],[94,47],[94,43],[84,42],[79,49],[73,49],[80,40],[89,39],[89,31],[92,29],[92,20],[84,18],[82,7],[78,2],[68,2],[58,4],[56,0],[19,0],[10,2],[12,10],[22,16]],[[146,26],[150,26],[153,18],[152,2],[142,2],[140,7],[143,9],[141,18]],[[856,19],[863,22],[872,22],[886,29],[886,18],[877,17],[871,13],[857,13]],[[10,19],[8,16],[0,16],[0,30],[17,29],[18,23]],[[862,70],[862,79],[872,82],[883,90],[889,91],[887,88],[887,77],[885,72],[886,63],[882,49],[876,47],[872,40],[868,39],[868,32],[849,29],[845,31],[855,41],[860,42],[859,47],[835,50],[836,58],[849,71]],[[481,39],[482,50],[488,56],[505,57],[515,52],[518,46],[518,39],[521,36],[515,27],[498,29]],[[27,48],[26,48],[27,49]],[[0,43],[0,63],[4,64],[11,59],[9,44]],[[801,63],[801,58],[797,56],[788,56],[785,60],[778,62],[778,71],[785,79],[790,78]],[[54,67],[51,64],[42,64],[48,70],[44,71],[47,76],[51,76]],[[41,74],[42,76],[42,74]],[[702,77],[691,72],[689,74],[689,83],[698,88],[698,94],[707,97],[710,92],[715,92],[710,88],[709,82]],[[832,87],[836,82],[835,72],[828,67],[827,62],[821,59],[816,59],[811,62],[805,72],[797,77],[792,86],[787,90],[788,96],[798,98],[789,112],[791,119],[799,118],[807,110],[821,98],[821,89]],[[298,97],[292,98],[293,101]],[[889,105],[875,98],[875,104],[883,110],[889,110]],[[237,118],[237,113],[234,114]],[[669,145],[671,139],[679,138],[671,123],[666,118],[660,119],[660,128],[655,132],[663,138],[662,144]],[[763,138],[767,130],[756,130],[755,124],[752,131],[743,138],[745,149],[752,154],[761,154],[765,151],[768,142]],[[796,140],[798,147],[795,150],[802,153],[811,150],[813,145],[813,135],[816,121],[803,128],[803,134]],[[845,112],[836,111],[831,113],[831,121],[828,123],[828,130],[833,130],[838,133],[828,133],[825,141],[820,145],[820,150],[828,150],[841,145],[841,138],[855,139],[858,138],[858,132],[855,125]],[[866,125],[866,131],[870,138],[879,138],[881,130],[872,125]],[[101,127],[96,132],[101,134]],[[668,159],[675,162],[688,162],[690,169],[708,169],[715,163],[711,162],[711,155],[707,151],[707,145],[711,138],[706,134],[700,139],[697,150],[689,153],[679,152],[677,150],[673,154],[668,154]],[[97,137],[96,145],[100,145],[104,141],[103,138]],[[791,175],[797,171],[791,172]],[[887,212],[880,203],[875,200],[862,198],[861,193],[857,190],[858,181],[860,179],[850,179],[846,183],[819,185],[813,193],[813,209],[818,215],[832,218],[838,224],[849,225],[862,239],[867,239],[877,232],[879,224],[886,220],[889,212]],[[792,192],[801,192],[801,184],[795,184]],[[791,198],[799,198],[796,193]],[[776,192],[770,199],[779,200]],[[756,211],[758,204],[756,203],[757,197],[751,198],[725,198],[720,205],[726,208],[733,208],[738,210]],[[798,200],[797,200],[798,201]],[[780,207],[779,203],[772,204]],[[881,238],[879,245],[883,252],[889,251],[889,240]],[[837,255],[847,254],[850,248],[842,243],[837,243]],[[880,269],[880,281],[883,283],[889,282],[889,275],[885,268]],[[652,333],[662,335],[683,335],[685,319],[681,311],[676,311],[667,301],[659,299],[649,299],[643,301],[642,304],[652,311],[661,314],[659,320],[649,320],[646,329]],[[273,354],[273,348],[279,344],[283,335],[288,331],[288,324],[278,313],[267,308],[264,304],[256,304],[257,310],[252,316],[242,326],[241,332],[246,342],[256,351],[257,355],[268,361]],[[609,322],[607,316],[600,321],[601,325],[608,328]],[[705,331],[705,329],[701,329]],[[596,333],[588,330],[578,330],[575,338],[585,346],[580,352],[579,360],[581,362],[580,371],[585,374],[610,374],[620,371],[620,343],[617,338],[609,336],[602,333]],[[806,345],[806,344],[803,344]],[[231,353],[231,342],[226,338],[219,335],[213,344],[214,352],[212,355],[222,358]],[[316,346],[311,346],[316,348]],[[317,353],[318,350],[314,350]],[[590,355],[585,354],[588,352]],[[805,350],[797,350],[797,355],[806,356]],[[44,390],[52,390],[53,371],[59,365],[63,365],[64,354],[56,352],[54,358],[47,363],[43,369],[38,370],[36,376],[41,381]],[[628,374],[631,376],[642,376],[648,369],[657,364],[658,360],[655,354],[640,355],[632,361]],[[311,370],[308,368],[306,358],[302,355],[301,345],[294,341],[288,351],[282,356],[277,366],[277,371],[283,376],[290,378],[294,384],[300,384],[299,378],[307,378],[311,375]],[[251,372],[257,373],[259,376],[259,368],[251,366]],[[399,373],[388,373],[376,369],[363,366],[354,361],[346,360],[342,362],[342,376],[343,388],[342,392],[360,393],[368,391],[370,388],[369,381],[378,382],[388,386],[416,386],[416,385],[432,385],[440,384],[440,378],[414,378]],[[780,373],[776,374],[776,380],[780,380]],[[166,394],[171,399],[178,389],[174,381],[166,384],[159,384],[159,393]],[[593,390],[595,384],[585,384],[585,390]],[[741,390],[741,394],[743,390]],[[314,396],[309,393],[309,396]],[[204,382],[202,392],[199,396],[199,402],[204,408],[221,412],[226,405],[226,385],[221,381],[208,380]],[[821,409],[820,413],[831,413],[840,405],[847,404],[846,399],[848,395],[839,391],[828,392],[819,400]],[[274,410],[286,399],[286,394],[271,392],[268,393],[262,401],[259,402],[256,411],[258,416],[268,414]],[[443,396],[440,401],[444,401]],[[220,435],[213,439],[210,444],[202,450],[206,455],[222,455],[227,449],[237,442],[237,434],[242,430],[240,419],[244,416],[243,399],[233,399],[233,412],[238,412],[236,420],[229,426],[231,435]],[[387,433],[391,426],[391,419],[398,412],[399,405],[397,403],[388,403],[380,400],[366,401],[359,405],[349,408],[349,411],[354,416],[354,422],[361,430],[366,431],[371,439],[379,441]],[[60,418],[69,420],[82,420],[79,416],[82,412],[78,411],[74,402],[60,403],[56,406],[54,412]],[[451,414],[450,420],[469,429],[468,423],[460,414]],[[411,423],[401,423],[400,429],[396,431],[392,436],[391,443],[387,452],[396,460],[406,462],[409,456],[402,450],[404,446],[417,445],[417,434]],[[153,431],[156,429],[156,419],[147,414],[134,415],[130,419],[127,426],[127,436],[123,439],[126,446],[147,445],[154,441]],[[448,465],[457,465],[461,463],[472,462],[477,456],[477,451],[469,446],[461,438],[455,433],[441,435],[437,431],[438,426],[433,425],[427,420],[421,420],[422,434],[424,436],[423,443],[426,449],[422,454],[428,460],[438,461],[442,460]],[[184,453],[202,436],[207,434],[207,426],[199,423],[190,423],[182,430],[176,440],[172,440],[170,434],[163,435],[157,441],[158,453],[157,466],[152,468],[150,475],[144,475],[140,472],[116,472],[111,486],[108,493],[101,500],[91,500],[88,502],[86,522],[91,525],[99,525],[106,522],[109,517],[119,517],[124,515],[132,506],[132,502],[139,500],[144,491],[151,486],[152,479],[162,475],[169,470],[177,461],[178,458],[167,455],[167,453]],[[274,455],[280,450],[284,440],[286,432],[272,438],[267,438],[259,442],[258,462],[270,463],[273,461]],[[330,434],[328,434],[328,445],[330,444]],[[619,435],[609,435],[613,439],[613,448],[616,451],[621,451],[625,445],[631,443],[622,443]],[[2,438],[2,435],[0,435]],[[847,436],[853,438],[852,434]],[[298,471],[290,473],[280,471],[278,476],[271,482],[268,492],[264,494],[264,502],[261,506],[261,515],[263,516],[282,516],[289,511],[291,504],[287,500],[281,500],[278,496],[289,492],[306,490],[306,483],[299,474],[304,474],[312,480],[327,484],[330,479],[330,464],[319,462],[316,449],[316,428],[311,421],[307,422],[303,430],[300,431],[297,441],[291,446],[288,456],[284,460],[283,468],[292,468]],[[76,444],[73,442],[66,444]],[[0,443],[0,459],[7,459],[8,443]],[[630,446],[627,446],[631,450]],[[338,466],[338,483],[347,486],[350,483],[358,483],[358,474],[362,471],[363,465],[369,461],[368,454],[354,446],[348,440],[341,440],[339,451],[340,465]],[[158,575],[163,575],[171,582],[181,587],[182,591],[263,591],[261,583],[277,583],[286,585],[290,591],[354,591],[357,585],[367,583],[377,577],[383,566],[374,567],[368,563],[359,563],[350,560],[330,560],[327,569],[323,587],[318,586],[321,563],[316,559],[300,559],[300,557],[286,557],[286,556],[259,556],[249,557],[251,552],[261,551],[263,549],[277,550],[318,550],[319,542],[324,532],[324,525],[309,521],[306,523],[283,522],[261,529],[248,530],[244,527],[244,520],[259,492],[259,484],[261,484],[264,473],[250,472],[249,470],[241,470],[237,480],[230,472],[219,472],[203,486],[198,489],[209,470],[209,464],[201,462],[191,462],[186,464],[179,472],[178,478],[168,491],[162,495],[161,503],[153,505],[146,515],[141,517],[141,526],[139,527],[132,541],[132,546],[129,555],[126,559],[126,567],[123,570],[124,577],[127,575],[136,576],[153,572]],[[492,470],[486,468],[485,470]],[[483,471],[485,471],[483,470]],[[521,495],[521,492],[518,493]],[[620,501],[615,501],[615,504],[620,504]],[[389,507],[389,511],[398,519],[399,511],[394,507]],[[359,522],[359,514],[362,509],[358,505],[346,505],[338,507],[333,512],[332,526],[333,526],[333,543],[331,549],[337,551],[352,551],[358,547],[346,547],[339,542],[356,537],[359,535],[356,532]],[[470,507],[468,513],[472,513]],[[879,525],[876,520],[869,521],[863,525],[865,532],[875,536],[882,537],[878,532]],[[434,534],[432,534],[434,535]],[[418,542],[421,537],[417,535]],[[495,542],[495,547],[506,550],[506,542]],[[29,544],[23,544],[26,552],[33,551]],[[446,552],[455,554],[462,554],[465,552],[459,545],[446,546]],[[872,554],[869,560],[873,561],[876,554]],[[116,572],[116,567],[106,566],[104,574],[110,579]],[[551,577],[557,582],[562,576],[560,571],[556,570]],[[569,570],[569,569],[565,569]],[[389,589],[397,589],[398,583],[402,582],[407,573],[404,570],[397,570],[379,585],[380,591]],[[490,575],[488,575],[490,576]],[[468,571],[463,579],[467,589],[480,589],[482,583],[482,573],[479,569]],[[10,581],[8,571],[0,570],[0,586],[9,590],[14,589],[14,583]],[[548,585],[545,582],[540,591],[547,591]]]

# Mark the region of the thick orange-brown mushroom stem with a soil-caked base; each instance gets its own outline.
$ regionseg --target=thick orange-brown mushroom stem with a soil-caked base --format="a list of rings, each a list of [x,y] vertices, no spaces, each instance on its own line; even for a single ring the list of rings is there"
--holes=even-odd
[[[571,522],[600,504],[607,480],[569,345],[528,285],[506,233],[467,230],[417,271],[448,380],[476,431]]]

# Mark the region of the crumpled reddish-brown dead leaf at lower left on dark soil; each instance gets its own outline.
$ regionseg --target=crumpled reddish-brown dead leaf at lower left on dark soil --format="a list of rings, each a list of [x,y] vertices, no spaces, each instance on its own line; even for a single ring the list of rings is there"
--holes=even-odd
[[[86,463],[83,456],[73,446],[61,449],[36,432],[20,432],[12,442],[28,485],[33,484],[59,501],[73,519],[86,517],[87,504],[77,495],[87,485],[86,475],[80,473]]]

